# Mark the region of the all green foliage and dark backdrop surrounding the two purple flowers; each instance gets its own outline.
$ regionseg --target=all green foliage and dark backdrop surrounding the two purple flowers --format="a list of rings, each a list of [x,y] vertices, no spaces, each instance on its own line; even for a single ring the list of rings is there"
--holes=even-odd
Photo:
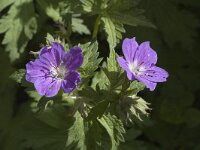
[[[1,0],[0,149],[199,150],[199,7],[198,0]],[[37,52],[46,34],[47,45],[83,50],[82,82],[70,94],[42,97],[19,69],[36,56],[23,52]],[[133,36],[151,41],[170,74],[154,92],[129,81],[116,61],[118,44]]]

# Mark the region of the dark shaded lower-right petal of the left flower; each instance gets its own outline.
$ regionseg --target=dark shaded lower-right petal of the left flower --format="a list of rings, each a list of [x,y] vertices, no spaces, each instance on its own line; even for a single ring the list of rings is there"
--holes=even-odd
[[[66,77],[65,77],[65,80],[62,82],[62,89],[65,93],[70,93],[72,92],[77,84],[80,83],[80,75],[78,72],[76,71],[73,71],[73,72],[70,72]]]

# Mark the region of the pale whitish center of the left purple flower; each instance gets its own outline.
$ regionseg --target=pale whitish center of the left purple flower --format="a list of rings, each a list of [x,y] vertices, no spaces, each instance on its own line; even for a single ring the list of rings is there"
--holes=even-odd
[[[68,73],[64,64],[61,64],[60,66],[55,67],[55,68],[53,67],[50,72],[53,78],[62,79],[62,80],[65,78],[66,74]]]

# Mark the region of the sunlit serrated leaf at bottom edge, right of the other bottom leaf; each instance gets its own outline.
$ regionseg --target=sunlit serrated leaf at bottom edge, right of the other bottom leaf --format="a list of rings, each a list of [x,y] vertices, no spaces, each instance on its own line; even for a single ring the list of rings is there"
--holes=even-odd
[[[112,143],[111,150],[117,150],[120,142],[124,141],[125,129],[121,120],[114,115],[103,115],[98,121],[107,131]]]

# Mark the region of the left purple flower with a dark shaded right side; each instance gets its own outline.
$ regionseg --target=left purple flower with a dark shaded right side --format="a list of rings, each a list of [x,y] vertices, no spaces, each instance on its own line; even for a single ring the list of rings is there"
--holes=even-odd
[[[74,47],[65,53],[60,43],[53,42],[40,50],[38,59],[26,64],[26,80],[46,97],[55,96],[60,88],[70,93],[81,81],[76,70],[82,63],[81,48]]]

